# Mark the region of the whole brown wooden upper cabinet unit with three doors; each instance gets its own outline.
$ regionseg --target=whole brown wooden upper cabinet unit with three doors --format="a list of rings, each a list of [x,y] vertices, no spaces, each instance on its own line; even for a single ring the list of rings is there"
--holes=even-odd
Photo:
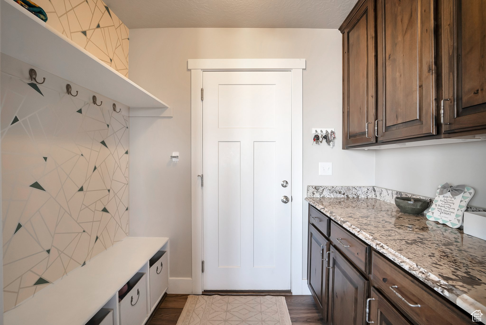
[[[485,0],[359,0],[339,30],[344,149],[486,134]]]

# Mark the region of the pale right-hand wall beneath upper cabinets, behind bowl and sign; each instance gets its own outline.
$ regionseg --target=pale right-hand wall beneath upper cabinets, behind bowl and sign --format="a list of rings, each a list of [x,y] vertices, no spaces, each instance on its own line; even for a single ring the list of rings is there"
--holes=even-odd
[[[466,184],[476,191],[469,205],[486,208],[486,141],[376,150],[375,159],[376,186],[435,197],[439,184]]]

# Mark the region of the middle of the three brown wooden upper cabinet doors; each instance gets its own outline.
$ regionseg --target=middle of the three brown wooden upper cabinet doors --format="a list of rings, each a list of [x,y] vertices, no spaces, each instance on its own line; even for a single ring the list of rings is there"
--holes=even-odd
[[[377,0],[378,142],[437,133],[433,3]]]

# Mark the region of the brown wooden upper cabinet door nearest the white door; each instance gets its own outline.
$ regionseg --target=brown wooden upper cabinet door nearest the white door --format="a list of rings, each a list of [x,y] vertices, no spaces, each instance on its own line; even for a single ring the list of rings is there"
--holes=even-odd
[[[359,6],[359,4],[358,4]],[[375,142],[374,1],[361,1],[343,33],[343,147]]]

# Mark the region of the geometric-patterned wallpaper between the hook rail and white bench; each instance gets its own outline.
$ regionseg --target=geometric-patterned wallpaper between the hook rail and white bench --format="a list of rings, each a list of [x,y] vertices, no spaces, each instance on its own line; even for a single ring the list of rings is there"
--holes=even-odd
[[[6,311],[127,236],[129,125],[30,80],[0,83]]]

